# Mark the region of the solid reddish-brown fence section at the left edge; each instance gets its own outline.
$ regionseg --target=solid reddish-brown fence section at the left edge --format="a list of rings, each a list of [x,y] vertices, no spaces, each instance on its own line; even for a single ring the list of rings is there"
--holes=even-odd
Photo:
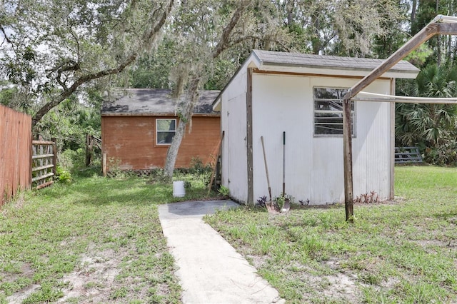
[[[31,116],[0,105],[0,206],[31,185]]]

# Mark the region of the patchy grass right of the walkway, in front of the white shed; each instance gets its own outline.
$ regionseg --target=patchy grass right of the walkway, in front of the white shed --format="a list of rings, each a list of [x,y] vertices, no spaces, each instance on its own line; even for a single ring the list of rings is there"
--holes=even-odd
[[[457,169],[396,168],[394,203],[207,217],[288,303],[456,303]]]

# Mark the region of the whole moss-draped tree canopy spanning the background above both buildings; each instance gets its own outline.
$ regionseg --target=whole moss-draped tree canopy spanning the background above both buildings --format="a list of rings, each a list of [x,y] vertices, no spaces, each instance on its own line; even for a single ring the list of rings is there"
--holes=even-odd
[[[224,88],[252,49],[386,59],[437,14],[456,15],[457,2],[4,0],[0,102],[31,113],[36,131],[49,133],[54,116],[76,115],[55,108],[64,101],[96,112],[107,86],[174,88],[186,93],[180,115],[190,121],[198,90]],[[456,37],[439,36],[408,56],[423,75],[399,81],[397,92],[436,96],[439,86],[455,96],[456,44]],[[426,139],[406,119],[415,115],[406,111],[420,108],[398,105],[398,144],[427,151],[443,143],[430,136],[452,138],[455,109],[446,108],[442,132]],[[423,111],[431,118],[424,121],[436,121],[432,112]]]

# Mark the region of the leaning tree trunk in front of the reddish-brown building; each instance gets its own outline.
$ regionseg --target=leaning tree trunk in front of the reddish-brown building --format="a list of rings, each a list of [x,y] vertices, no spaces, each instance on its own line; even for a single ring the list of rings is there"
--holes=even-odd
[[[173,177],[174,165],[176,163],[176,158],[178,157],[179,146],[181,146],[181,141],[184,138],[186,126],[191,121],[192,113],[194,113],[194,107],[199,101],[199,84],[200,78],[193,78],[191,80],[184,102],[184,108],[181,109],[179,115],[180,119],[178,127],[176,128],[176,133],[171,141],[169,150],[166,153],[164,175],[168,178]]]

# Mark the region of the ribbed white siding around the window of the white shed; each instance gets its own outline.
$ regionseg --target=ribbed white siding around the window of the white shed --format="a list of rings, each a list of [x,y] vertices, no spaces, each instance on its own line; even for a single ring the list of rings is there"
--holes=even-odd
[[[352,79],[313,78],[313,86],[351,87]],[[366,91],[388,93],[389,81],[375,81]],[[358,102],[356,138],[353,138],[354,196],[376,191],[388,196],[390,148],[390,110],[388,104]],[[313,189],[311,203],[342,202],[343,139],[313,138]]]

